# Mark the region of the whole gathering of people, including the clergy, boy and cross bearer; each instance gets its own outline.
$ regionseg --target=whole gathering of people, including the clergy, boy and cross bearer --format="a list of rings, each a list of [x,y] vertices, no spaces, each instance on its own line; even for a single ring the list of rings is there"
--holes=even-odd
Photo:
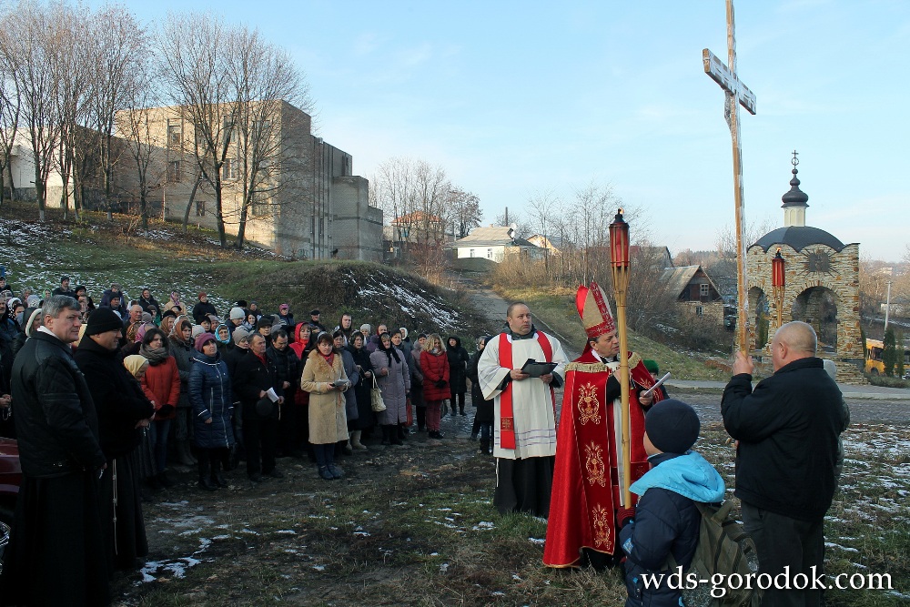
[[[241,300],[222,319],[205,292],[190,309],[177,292],[161,306],[116,283],[96,307],[67,277],[45,298],[7,289],[3,280],[0,435],[19,441],[23,482],[0,603],[106,604],[110,573],[147,554],[140,487],[172,484],[175,461],[197,466],[204,491],[226,487],[241,461],[253,483],[280,479],[282,457],[308,457],[320,479],[338,480],[339,455],[374,448],[365,443],[401,445],[415,430],[443,439],[440,418],[466,415],[468,379],[471,438],[496,458],[493,505],[547,518],[545,565],[622,566],[627,605],[682,604],[678,588],[642,577],[687,569],[700,508],[724,498],[693,450],[697,414],[656,385],[656,363],[619,355],[596,283],[576,296],[588,341],[571,361],[522,302],[469,355],[457,336],[355,329],[349,314],[333,329],[319,309],[297,322],[287,303],[269,314]],[[737,354],[723,394],[739,441],[735,495],[769,576],[824,564],[849,415],[816,348],[810,325],[788,323],[772,342],[773,376],[753,388],[752,360]],[[821,594],[770,589],[763,604],[821,604]]]

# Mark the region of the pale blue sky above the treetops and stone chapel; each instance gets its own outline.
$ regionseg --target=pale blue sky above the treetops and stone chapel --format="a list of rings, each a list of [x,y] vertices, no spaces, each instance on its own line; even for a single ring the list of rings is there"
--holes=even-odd
[[[93,2],[92,4],[96,4]],[[480,198],[484,225],[528,200],[592,184],[673,255],[732,232],[733,153],[723,91],[702,49],[726,58],[723,0],[126,0],[258,28],[305,71],[319,137],[370,178],[391,157],[443,167]],[[737,73],[745,218],[783,226],[792,152],[806,225],[864,259],[910,249],[910,2],[739,0]],[[632,223],[632,238],[635,224]]]

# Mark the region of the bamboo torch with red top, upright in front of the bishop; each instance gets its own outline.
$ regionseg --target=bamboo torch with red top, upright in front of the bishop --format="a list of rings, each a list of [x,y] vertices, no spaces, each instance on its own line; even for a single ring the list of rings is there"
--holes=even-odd
[[[622,506],[632,507],[632,425],[629,409],[629,336],[626,329],[626,291],[629,288],[629,224],[622,218],[622,208],[610,224],[610,266],[613,295],[616,298],[616,330],[620,338],[620,388],[622,403]]]

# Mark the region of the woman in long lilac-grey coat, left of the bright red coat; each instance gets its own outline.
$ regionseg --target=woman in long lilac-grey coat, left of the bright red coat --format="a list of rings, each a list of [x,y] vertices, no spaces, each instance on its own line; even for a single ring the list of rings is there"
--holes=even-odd
[[[382,444],[400,445],[399,424],[408,421],[408,393],[410,369],[404,354],[392,345],[388,331],[379,336],[376,351],[369,355],[369,362],[379,382],[382,402],[386,410],[376,414],[382,426]]]

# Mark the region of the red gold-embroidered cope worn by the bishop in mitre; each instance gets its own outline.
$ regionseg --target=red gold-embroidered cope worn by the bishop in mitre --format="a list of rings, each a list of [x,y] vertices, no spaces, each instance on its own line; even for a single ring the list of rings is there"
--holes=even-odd
[[[642,357],[629,354],[632,369],[630,405],[632,410],[632,482],[648,471],[648,457],[642,443],[644,411],[638,404],[640,389],[654,380],[644,368]],[[543,564],[548,567],[577,567],[581,549],[613,554],[616,551],[616,511],[620,507],[616,445],[621,441],[619,418],[613,409],[619,400],[606,401],[611,370],[590,349],[566,365],[565,393],[560,426],[556,436],[556,469],[547,541]],[[657,393],[654,402],[662,400]],[[632,504],[637,497],[632,495]],[[630,505],[632,505],[630,504]]]

